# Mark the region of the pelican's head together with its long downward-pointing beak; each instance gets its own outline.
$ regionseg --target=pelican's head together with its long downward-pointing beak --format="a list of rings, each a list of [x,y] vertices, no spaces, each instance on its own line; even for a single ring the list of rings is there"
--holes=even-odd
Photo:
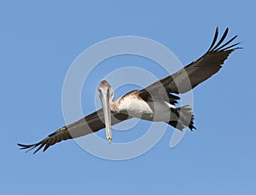
[[[108,83],[108,81],[103,80],[98,86],[98,95],[102,102],[103,115],[105,119],[106,126],[106,136],[108,142],[112,141],[112,131],[111,131],[111,104],[113,100],[113,88]]]

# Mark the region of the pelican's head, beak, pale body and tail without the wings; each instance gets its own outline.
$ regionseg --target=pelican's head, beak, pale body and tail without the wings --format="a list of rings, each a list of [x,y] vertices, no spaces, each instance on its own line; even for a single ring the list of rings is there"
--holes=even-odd
[[[159,87],[160,88],[160,87]],[[165,90],[166,91],[166,90]],[[113,114],[125,114],[130,118],[141,118],[143,120],[170,123],[175,128],[183,130],[189,127],[195,129],[193,125],[194,116],[190,106],[175,108],[170,104],[179,98],[175,95],[166,94],[166,100],[162,94],[150,95],[147,100],[143,100],[143,90],[133,90],[121,96],[118,100],[113,100],[113,89],[108,81],[103,80],[98,86],[98,95],[102,102],[102,110],[106,125],[106,137],[111,143],[111,112]],[[148,92],[147,92],[148,93]],[[154,100],[152,97],[154,95]]]

